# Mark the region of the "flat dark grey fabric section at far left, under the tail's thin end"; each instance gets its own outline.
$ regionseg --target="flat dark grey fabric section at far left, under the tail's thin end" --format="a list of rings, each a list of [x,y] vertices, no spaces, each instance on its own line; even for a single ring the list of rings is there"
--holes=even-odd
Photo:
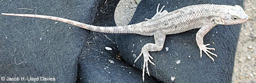
[[[0,13],[53,15],[92,24],[96,2],[0,1]],[[21,81],[21,77],[56,80],[40,82],[76,82],[78,56],[88,37],[86,30],[31,17],[0,15],[0,20],[0,77],[19,77],[20,81],[9,82],[33,82]]]

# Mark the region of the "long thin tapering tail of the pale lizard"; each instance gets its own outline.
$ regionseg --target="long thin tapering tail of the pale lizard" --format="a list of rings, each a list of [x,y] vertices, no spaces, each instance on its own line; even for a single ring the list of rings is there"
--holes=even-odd
[[[65,22],[67,24],[76,25],[77,27],[85,28],[87,30],[92,30],[94,32],[102,32],[102,33],[134,33],[132,30],[132,25],[127,26],[119,26],[119,27],[99,27],[95,25],[84,24],[81,22],[77,22],[74,20],[64,19],[61,17],[54,17],[49,15],[35,15],[35,14],[7,14],[2,13],[2,15],[13,15],[13,16],[21,16],[21,17],[36,17],[41,19],[51,19],[57,20],[60,22]]]

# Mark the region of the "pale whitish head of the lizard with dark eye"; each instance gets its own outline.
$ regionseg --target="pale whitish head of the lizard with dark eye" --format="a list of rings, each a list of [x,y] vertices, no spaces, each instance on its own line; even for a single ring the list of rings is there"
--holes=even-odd
[[[224,7],[225,11],[224,13],[220,15],[220,19],[217,24],[223,24],[223,25],[232,25],[232,24],[242,24],[244,22],[247,22],[249,19],[248,15],[245,14],[244,9],[241,6],[235,5],[235,6],[226,6]]]

